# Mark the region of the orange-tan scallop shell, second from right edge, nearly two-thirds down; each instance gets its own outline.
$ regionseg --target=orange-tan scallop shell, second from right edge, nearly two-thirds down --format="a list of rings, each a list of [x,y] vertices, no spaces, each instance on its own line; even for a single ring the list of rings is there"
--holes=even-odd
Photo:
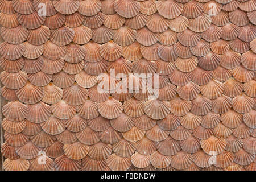
[[[225,126],[234,129],[243,122],[243,115],[230,109],[226,113],[221,114],[221,121]]]

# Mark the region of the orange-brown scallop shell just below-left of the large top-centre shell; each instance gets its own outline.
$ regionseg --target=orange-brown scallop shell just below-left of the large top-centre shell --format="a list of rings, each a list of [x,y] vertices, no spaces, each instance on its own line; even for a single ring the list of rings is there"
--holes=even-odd
[[[125,18],[115,13],[113,15],[105,15],[105,21],[103,24],[105,25],[105,27],[108,27],[110,29],[117,29],[120,28],[124,23]]]

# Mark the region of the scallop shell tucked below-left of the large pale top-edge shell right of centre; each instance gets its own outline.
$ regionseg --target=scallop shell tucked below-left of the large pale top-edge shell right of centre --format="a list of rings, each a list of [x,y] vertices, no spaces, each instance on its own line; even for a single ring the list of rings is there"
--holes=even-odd
[[[149,30],[155,33],[161,33],[167,30],[170,21],[163,18],[158,13],[152,14],[148,17],[146,26]]]

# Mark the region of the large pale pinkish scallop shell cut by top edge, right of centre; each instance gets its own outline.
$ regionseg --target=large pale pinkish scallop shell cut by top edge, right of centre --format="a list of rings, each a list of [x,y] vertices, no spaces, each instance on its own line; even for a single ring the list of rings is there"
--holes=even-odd
[[[183,5],[174,0],[156,2],[156,9],[164,18],[174,19],[181,14]]]

